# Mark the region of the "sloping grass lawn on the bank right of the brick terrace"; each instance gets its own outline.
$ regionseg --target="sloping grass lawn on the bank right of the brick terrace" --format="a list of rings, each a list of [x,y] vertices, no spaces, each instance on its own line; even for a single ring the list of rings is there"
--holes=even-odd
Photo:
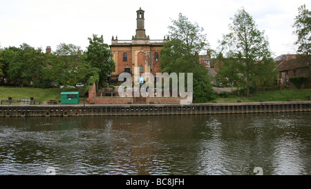
[[[227,98],[220,98],[218,95],[216,101],[218,103],[237,102],[237,100],[241,100],[242,102],[259,102],[259,100],[264,100],[265,102],[286,101],[288,99],[301,101],[308,100],[308,96],[311,96],[311,89],[283,89],[252,93],[252,97],[249,98],[229,93]]]

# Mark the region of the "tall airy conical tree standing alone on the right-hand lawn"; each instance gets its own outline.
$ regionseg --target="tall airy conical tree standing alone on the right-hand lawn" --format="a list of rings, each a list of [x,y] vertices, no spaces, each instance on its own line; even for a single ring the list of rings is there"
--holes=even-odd
[[[231,33],[227,35],[234,48],[234,57],[239,61],[239,72],[245,80],[246,95],[250,96],[249,87],[258,82],[261,75],[269,72],[274,75],[272,66],[263,66],[264,64],[273,64],[271,62],[272,52],[269,42],[264,35],[264,31],[258,30],[254,19],[244,8],[238,10],[229,24]],[[275,63],[274,63],[275,64]],[[265,70],[261,70],[267,68]]]

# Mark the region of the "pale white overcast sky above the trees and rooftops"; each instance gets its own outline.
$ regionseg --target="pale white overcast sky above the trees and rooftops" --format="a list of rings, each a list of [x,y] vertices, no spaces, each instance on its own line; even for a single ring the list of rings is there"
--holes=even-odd
[[[0,0],[0,46],[26,43],[35,48],[60,43],[75,44],[86,50],[88,37],[103,35],[111,44],[111,37],[131,39],[135,35],[136,10],[144,10],[146,34],[150,39],[163,39],[171,19],[178,13],[196,21],[205,29],[211,48],[228,33],[230,17],[244,7],[252,15],[259,30],[265,30],[274,56],[295,53],[292,34],[294,18],[299,6],[310,10],[311,1],[294,0],[191,0],[191,1],[99,1],[99,0]]]

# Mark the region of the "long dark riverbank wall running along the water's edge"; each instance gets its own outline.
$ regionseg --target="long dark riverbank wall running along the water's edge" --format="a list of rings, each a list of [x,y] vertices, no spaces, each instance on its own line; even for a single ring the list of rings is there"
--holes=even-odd
[[[311,111],[311,101],[124,105],[0,105],[0,117],[249,114]]]

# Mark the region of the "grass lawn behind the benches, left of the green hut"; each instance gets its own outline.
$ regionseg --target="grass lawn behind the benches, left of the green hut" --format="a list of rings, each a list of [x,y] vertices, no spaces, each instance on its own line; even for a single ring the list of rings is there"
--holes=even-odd
[[[12,100],[21,100],[22,98],[30,98],[33,96],[35,100],[41,100],[41,104],[48,100],[61,100],[60,93],[62,89],[50,88],[39,89],[32,87],[0,87],[0,100],[8,100],[8,96],[12,96]],[[80,101],[83,98],[80,98]]]

